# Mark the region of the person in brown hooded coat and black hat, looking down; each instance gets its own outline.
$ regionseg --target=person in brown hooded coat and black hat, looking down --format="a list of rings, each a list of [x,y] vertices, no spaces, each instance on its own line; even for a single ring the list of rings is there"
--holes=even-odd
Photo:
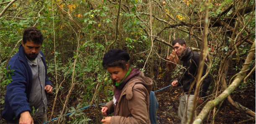
[[[103,124],[151,124],[149,118],[149,95],[153,81],[143,76],[138,68],[130,68],[129,54],[121,49],[109,50],[103,57],[103,68],[110,73],[113,85],[113,100],[101,112]]]

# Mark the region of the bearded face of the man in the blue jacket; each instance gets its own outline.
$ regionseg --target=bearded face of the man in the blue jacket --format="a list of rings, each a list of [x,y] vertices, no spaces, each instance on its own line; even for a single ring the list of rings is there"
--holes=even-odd
[[[23,51],[28,60],[35,60],[39,54],[41,44],[35,44],[33,41],[27,41],[25,44],[22,41]]]

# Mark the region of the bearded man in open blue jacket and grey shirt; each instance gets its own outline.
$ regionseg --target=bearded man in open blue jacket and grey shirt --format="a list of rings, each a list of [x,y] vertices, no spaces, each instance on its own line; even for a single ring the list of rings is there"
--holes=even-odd
[[[13,81],[7,85],[2,118],[7,124],[42,124],[47,122],[47,94],[52,93],[52,84],[47,77],[47,65],[40,50],[43,35],[36,27],[23,32],[23,41],[18,52],[10,58],[8,66]],[[30,112],[34,107],[36,120]]]

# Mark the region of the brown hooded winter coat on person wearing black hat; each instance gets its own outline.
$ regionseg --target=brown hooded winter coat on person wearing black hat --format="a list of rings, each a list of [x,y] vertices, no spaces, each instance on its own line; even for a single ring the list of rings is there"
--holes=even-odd
[[[142,76],[142,72],[125,84],[120,95],[116,116],[112,116],[110,124],[151,124],[149,118],[149,95],[153,81]],[[114,87],[115,92],[115,87]],[[106,107],[109,113],[114,112],[113,101]]]

